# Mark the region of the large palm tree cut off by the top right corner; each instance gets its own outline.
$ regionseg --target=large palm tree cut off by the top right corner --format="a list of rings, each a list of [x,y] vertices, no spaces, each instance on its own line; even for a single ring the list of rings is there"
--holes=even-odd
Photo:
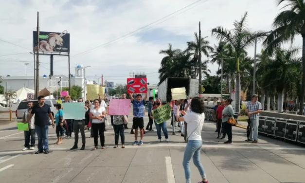
[[[304,109],[305,96],[305,0],[277,0],[277,4],[287,2],[284,8],[289,8],[279,13],[273,21],[274,31],[266,38],[264,45],[266,46],[266,53],[272,55],[274,49],[282,43],[294,41],[294,37],[301,35],[303,37],[302,49],[302,88],[300,100],[300,113]]]

